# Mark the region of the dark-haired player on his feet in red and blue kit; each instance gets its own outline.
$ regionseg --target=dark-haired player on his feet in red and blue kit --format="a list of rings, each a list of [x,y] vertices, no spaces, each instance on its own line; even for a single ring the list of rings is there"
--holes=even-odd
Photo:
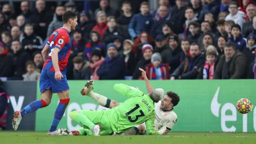
[[[31,102],[21,111],[14,112],[14,119],[12,120],[14,130],[17,130],[20,120],[25,114],[48,106],[52,99],[52,94],[57,93],[60,103],[54,113],[54,119],[48,135],[60,135],[56,128],[69,103],[69,86],[66,78],[66,66],[71,51],[69,32],[75,30],[78,16],[76,12],[68,10],[62,15],[62,20],[64,23],[63,27],[55,30],[51,34],[42,50],[44,66],[40,77],[41,100]]]

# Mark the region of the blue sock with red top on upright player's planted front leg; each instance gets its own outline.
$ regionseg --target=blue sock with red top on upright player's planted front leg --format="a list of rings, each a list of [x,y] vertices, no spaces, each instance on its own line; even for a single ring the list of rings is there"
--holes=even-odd
[[[64,99],[64,100],[60,100],[60,103],[58,104],[55,113],[54,113],[54,118],[52,120],[52,126],[49,130],[49,132],[53,132],[57,129],[57,126],[66,110],[66,107],[68,105],[69,102],[69,98],[68,99]]]

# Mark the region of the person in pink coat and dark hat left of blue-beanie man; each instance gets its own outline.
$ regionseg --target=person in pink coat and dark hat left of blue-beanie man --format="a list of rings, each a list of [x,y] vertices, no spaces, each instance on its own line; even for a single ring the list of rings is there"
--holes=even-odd
[[[90,66],[90,69],[91,69],[90,71],[92,73],[91,80],[99,80],[100,79],[100,77],[97,75],[97,70],[100,68],[100,65],[104,61],[105,61],[105,58],[102,57],[101,51],[95,49],[92,52],[92,59],[89,63],[89,66]]]

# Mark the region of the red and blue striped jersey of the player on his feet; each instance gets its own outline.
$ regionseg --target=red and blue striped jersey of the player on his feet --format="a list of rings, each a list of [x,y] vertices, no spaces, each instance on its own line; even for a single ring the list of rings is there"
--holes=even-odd
[[[65,28],[59,28],[55,30],[49,37],[47,44],[50,46],[49,54],[44,62],[43,70],[50,70],[55,72],[52,64],[52,51],[54,48],[60,49],[58,53],[58,64],[60,72],[66,74],[66,66],[68,64],[68,58],[70,55],[72,43],[69,36],[69,31]]]

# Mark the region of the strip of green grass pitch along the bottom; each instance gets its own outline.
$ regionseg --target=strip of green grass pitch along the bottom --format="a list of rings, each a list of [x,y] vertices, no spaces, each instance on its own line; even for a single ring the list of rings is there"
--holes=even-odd
[[[47,136],[0,131],[0,144],[256,144],[256,133],[171,132],[165,136]]]

